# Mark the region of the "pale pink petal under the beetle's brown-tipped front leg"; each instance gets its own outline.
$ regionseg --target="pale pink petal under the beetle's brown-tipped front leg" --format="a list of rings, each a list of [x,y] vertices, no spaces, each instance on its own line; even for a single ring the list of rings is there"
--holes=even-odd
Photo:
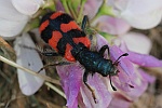
[[[104,78],[100,78],[98,73],[95,73],[93,77],[91,75],[87,77],[87,83],[95,92],[96,104],[94,103],[91,91],[82,83],[81,95],[86,108],[107,108],[109,106],[111,95],[102,79]]]

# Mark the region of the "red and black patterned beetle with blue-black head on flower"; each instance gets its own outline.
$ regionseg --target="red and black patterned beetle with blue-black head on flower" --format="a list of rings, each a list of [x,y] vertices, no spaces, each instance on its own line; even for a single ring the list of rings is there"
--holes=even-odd
[[[91,51],[91,41],[84,32],[87,22],[85,15],[82,21],[81,28],[75,19],[64,12],[51,12],[44,15],[40,23],[40,35],[44,42],[49,43],[59,55],[64,56],[68,62],[78,60],[84,68],[83,82],[92,92],[94,100],[96,100],[93,89],[86,83],[89,73],[98,72],[103,77],[116,76],[119,70],[117,66],[122,56],[127,56],[127,53],[122,54],[112,63],[111,59],[104,58],[104,53],[109,46],[106,44],[97,51]],[[117,89],[111,83],[113,91]]]

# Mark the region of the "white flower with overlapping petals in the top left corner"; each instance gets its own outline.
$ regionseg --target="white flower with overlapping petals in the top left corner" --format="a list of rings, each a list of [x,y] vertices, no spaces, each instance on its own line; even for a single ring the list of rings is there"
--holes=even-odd
[[[19,35],[42,3],[43,0],[1,0],[0,35],[4,38]]]

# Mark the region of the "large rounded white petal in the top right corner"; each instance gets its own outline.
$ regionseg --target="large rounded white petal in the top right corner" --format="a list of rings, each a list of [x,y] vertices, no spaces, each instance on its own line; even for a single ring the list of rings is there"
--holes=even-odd
[[[135,28],[152,28],[162,18],[162,0],[117,0],[113,3],[120,16]]]

